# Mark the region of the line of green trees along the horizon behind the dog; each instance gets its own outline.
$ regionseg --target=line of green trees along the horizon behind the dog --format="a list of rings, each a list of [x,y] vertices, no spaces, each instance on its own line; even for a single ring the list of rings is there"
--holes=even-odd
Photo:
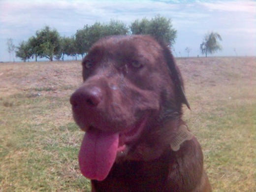
[[[70,37],[61,36],[56,29],[45,26],[43,29],[35,32],[27,41],[22,41],[16,47],[16,57],[26,62],[30,59],[37,61],[38,58],[47,58],[64,60],[64,56],[71,56],[77,59],[78,55],[82,58],[87,54],[92,44],[99,38],[107,35],[127,35],[127,34],[150,34],[156,39],[164,41],[167,45],[172,46],[175,43],[177,30],[172,26],[171,19],[157,15],[151,20],[143,18],[135,20],[129,27],[123,22],[111,20],[108,24],[96,22],[89,26],[79,29]],[[218,41],[215,41],[218,42]],[[202,43],[202,53],[209,53],[208,44]],[[210,48],[212,52],[214,46]],[[217,50],[221,47],[217,47]],[[8,52],[14,51],[12,42],[8,44]],[[187,49],[188,55],[190,48]],[[10,54],[9,52],[9,54]],[[207,55],[206,55],[207,56]]]

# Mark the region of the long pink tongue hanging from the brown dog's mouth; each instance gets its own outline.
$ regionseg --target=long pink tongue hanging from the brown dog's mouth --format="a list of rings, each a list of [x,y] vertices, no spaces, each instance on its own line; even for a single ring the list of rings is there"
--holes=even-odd
[[[89,179],[104,180],[116,159],[118,133],[94,130],[85,133],[79,151],[79,166]]]

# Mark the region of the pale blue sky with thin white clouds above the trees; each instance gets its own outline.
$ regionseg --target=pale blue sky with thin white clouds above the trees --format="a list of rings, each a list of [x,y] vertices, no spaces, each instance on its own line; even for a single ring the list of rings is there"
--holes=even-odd
[[[186,47],[190,57],[202,56],[200,44],[212,31],[223,39],[212,56],[256,56],[256,0],[0,0],[0,62],[10,61],[8,38],[18,46],[46,25],[71,36],[87,24],[114,19],[129,26],[158,14],[177,30],[174,57],[187,57]]]

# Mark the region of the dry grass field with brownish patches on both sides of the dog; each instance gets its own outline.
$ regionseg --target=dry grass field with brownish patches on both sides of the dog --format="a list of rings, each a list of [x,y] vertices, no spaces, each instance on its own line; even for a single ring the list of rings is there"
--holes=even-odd
[[[177,59],[215,192],[256,192],[256,58]],[[90,191],[69,96],[80,62],[0,64],[0,192]]]

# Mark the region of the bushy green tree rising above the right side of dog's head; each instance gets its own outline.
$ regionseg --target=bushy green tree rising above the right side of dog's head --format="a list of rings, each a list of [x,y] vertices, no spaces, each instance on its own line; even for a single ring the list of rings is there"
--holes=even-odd
[[[167,45],[175,43],[177,30],[173,29],[171,19],[160,15],[148,20],[143,18],[141,21],[135,20],[130,25],[132,34],[150,34],[156,39],[163,40]]]

